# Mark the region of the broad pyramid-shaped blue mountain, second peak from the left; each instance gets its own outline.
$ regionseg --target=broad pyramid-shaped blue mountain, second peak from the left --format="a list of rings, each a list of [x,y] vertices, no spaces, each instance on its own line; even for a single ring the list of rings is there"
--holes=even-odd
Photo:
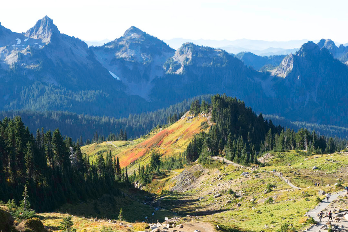
[[[164,75],[163,64],[174,54],[165,42],[130,27],[122,37],[101,47],[91,47],[97,60],[128,87],[130,94],[148,99],[152,80]]]

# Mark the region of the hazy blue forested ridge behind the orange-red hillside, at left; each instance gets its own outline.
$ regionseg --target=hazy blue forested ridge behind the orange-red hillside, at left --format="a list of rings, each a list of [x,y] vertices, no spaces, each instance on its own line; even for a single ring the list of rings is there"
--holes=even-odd
[[[210,98],[211,95],[201,95],[156,111],[129,114],[127,118],[117,118],[116,114],[115,117],[101,117],[66,111],[22,110],[0,111],[0,119],[20,116],[30,131],[36,131],[38,128],[41,130],[41,127],[44,127],[45,131],[59,128],[62,135],[68,135],[73,141],[79,138],[80,143],[85,144],[87,139],[92,142],[96,132],[105,139],[110,133],[119,134],[121,129],[127,132],[128,138],[140,137],[157,125],[169,123],[170,117],[174,115],[179,117],[181,113],[187,112],[192,101],[196,99],[210,101]]]

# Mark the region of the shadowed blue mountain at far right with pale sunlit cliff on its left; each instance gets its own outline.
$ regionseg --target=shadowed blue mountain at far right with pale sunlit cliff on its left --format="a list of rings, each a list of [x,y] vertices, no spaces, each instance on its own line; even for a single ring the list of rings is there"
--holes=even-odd
[[[326,45],[332,48],[330,41]],[[286,56],[274,74],[284,78],[274,88],[284,99],[283,111],[291,113],[293,120],[306,117],[307,121],[339,124],[341,117],[348,116],[347,110],[336,108],[340,101],[347,101],[342,87],[348,85],[348,68],[325,47],[305,43],[294,55]]]

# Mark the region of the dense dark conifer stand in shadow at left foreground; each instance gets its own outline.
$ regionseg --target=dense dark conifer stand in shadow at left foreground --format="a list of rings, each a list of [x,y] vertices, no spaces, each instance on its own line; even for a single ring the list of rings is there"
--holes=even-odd
[[[127,170],[117,166],[111,153],[90,163],[79,143],[59,129],[38,131],[36,137],[20,117],[0,121],[0,200],[22,199],[24,185],[36,211],[52,211],[64,203],[119,195],[128,185]]]

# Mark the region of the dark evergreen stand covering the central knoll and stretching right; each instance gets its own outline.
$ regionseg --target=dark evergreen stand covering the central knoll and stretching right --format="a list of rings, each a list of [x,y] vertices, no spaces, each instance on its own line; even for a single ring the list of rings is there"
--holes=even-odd
[[[308,154],[333,153],[346,147],[347,141],[317,136],[315,130],[297,132],[275,126],[271,120],[256,115],[243,101],[226,95],[212,96],[211,126],[208,133],[200,133],[187,146],[184,155],[190,161],[209,160],[211,155],[224,155],[242,165],[257,164],[258,156],[265,151],[306,150]],[[205,103],[193,102],[191,109],[197,114],[207,109]]]

